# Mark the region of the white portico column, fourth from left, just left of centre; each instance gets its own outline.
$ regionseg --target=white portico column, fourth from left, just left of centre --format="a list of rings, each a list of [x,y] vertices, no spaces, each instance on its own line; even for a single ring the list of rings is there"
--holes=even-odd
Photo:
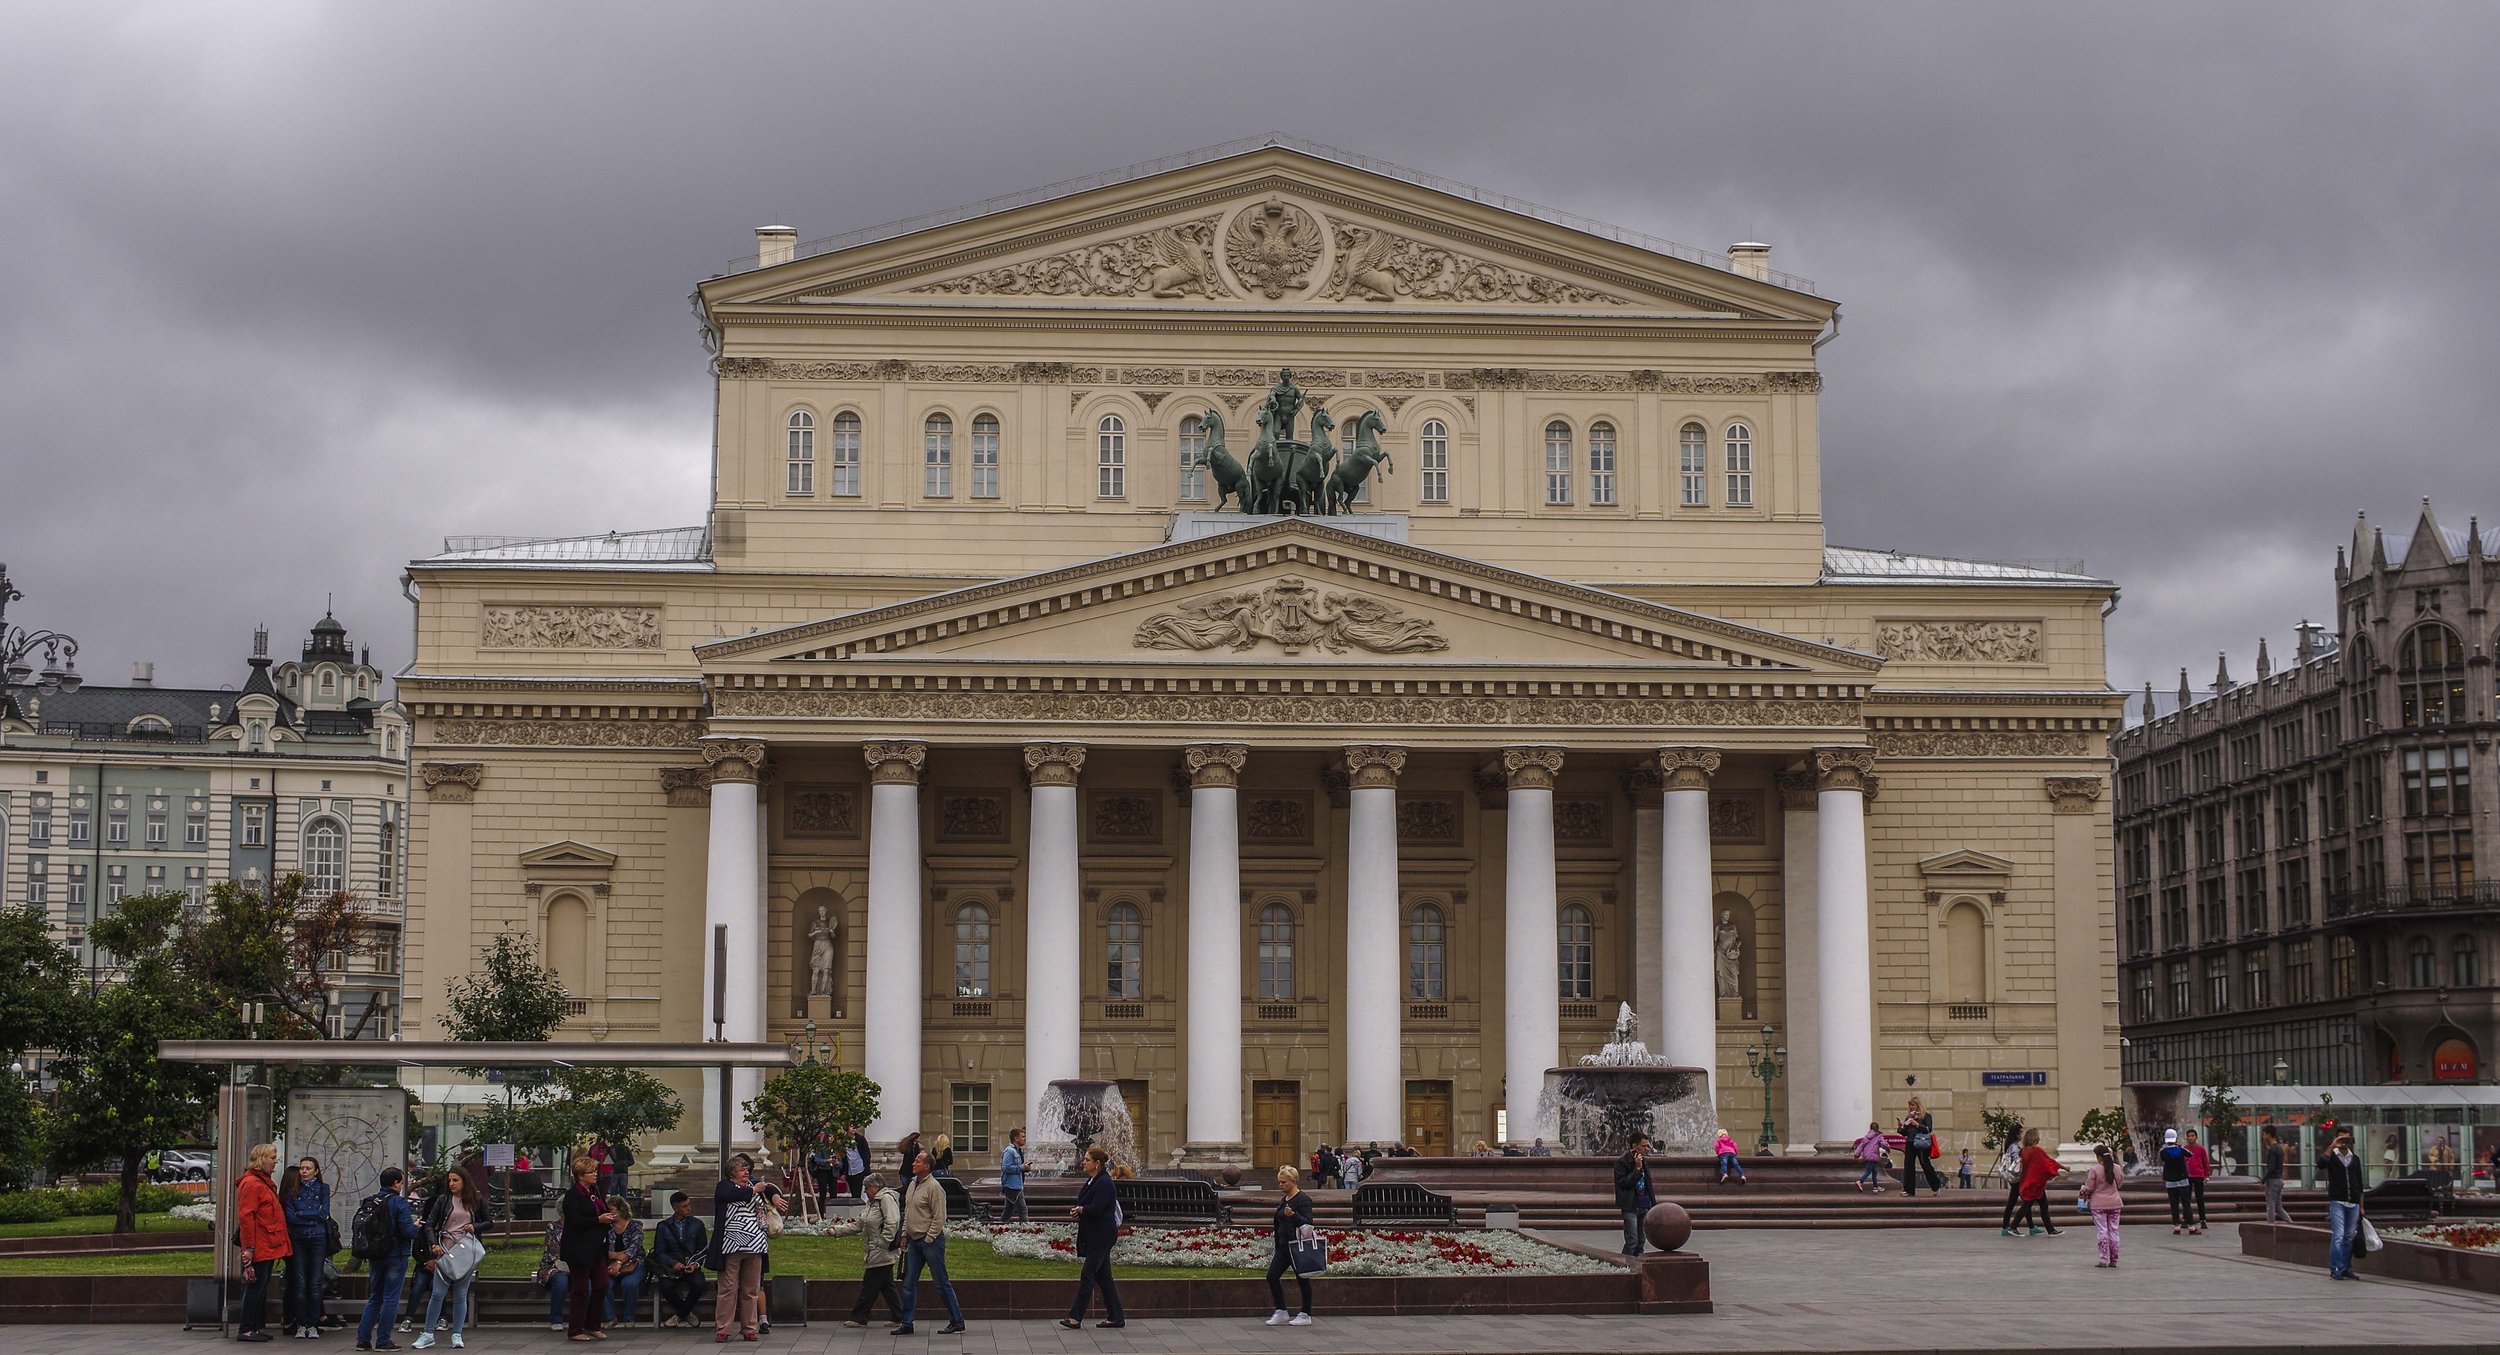
[[[1190,1068],[1182,1082],[1192,1165],[1250,1165],[1242,1130],[1240,775],[1250,750],[1182,750],[1190,772]]]

